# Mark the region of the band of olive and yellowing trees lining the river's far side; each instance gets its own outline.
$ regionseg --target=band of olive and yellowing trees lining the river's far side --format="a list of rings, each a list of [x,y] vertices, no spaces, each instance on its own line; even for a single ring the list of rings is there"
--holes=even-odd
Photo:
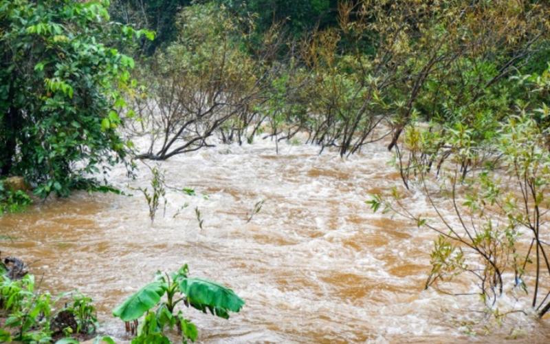
[[[252,142],[266,129],[277,141],[305,132],[344,156],[388,136],[394,149],[415,120],[467,125],[481,140],[527,95],[511,76],[542,72],[549,52],[540,1],[343,1],[333,25],[306,25],[301,39],[284,21],[257,30],[260,17],[244,13],[259,2],[241,14],[232,6],[184,7],[173,43],[140,72],[150,87],[133,98],[134,127],[151,136],[141,158],[164,160],[216,136]]]

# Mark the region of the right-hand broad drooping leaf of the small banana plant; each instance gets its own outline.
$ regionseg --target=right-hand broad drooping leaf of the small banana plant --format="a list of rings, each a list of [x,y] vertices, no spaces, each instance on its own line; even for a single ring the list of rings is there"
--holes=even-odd
[[[215,311],[217,316],[228,318],[228,311],[239,312],[245,301],[233,290],[206,279],[186,278],[179,282],[179,290],[186,295],[188,303],[197,310]]]

